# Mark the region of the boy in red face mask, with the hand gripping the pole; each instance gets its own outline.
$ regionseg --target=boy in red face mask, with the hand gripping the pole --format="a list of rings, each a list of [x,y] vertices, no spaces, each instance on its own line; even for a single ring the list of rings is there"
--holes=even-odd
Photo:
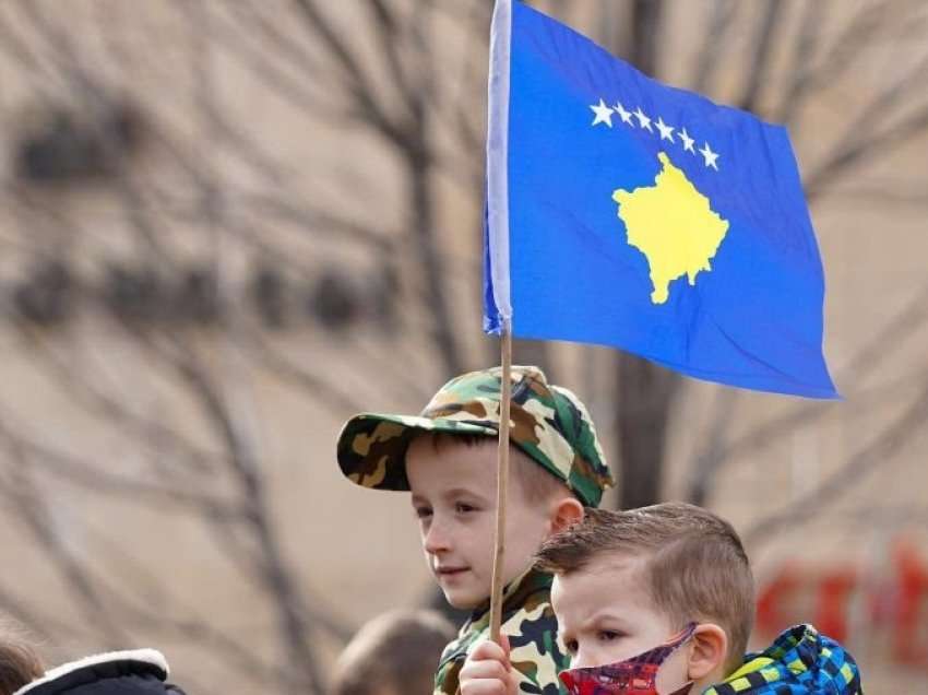
[[[753,625],[753,579],[731,526],[671,503],[590,510],[545,543],[555,574],[559,640],[571,656],[568,693],[598,695],[858,695],[854,659],[809,625],[743,657]],[[484,641],[461,673],[463,695],[507,695],[504,649]]]

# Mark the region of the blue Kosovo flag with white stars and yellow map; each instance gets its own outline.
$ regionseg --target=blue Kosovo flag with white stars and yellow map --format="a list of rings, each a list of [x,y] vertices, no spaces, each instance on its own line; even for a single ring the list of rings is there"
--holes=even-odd
[[[490,50],[484,323],[838,398],[786,130],[663,85],[521,3]]]

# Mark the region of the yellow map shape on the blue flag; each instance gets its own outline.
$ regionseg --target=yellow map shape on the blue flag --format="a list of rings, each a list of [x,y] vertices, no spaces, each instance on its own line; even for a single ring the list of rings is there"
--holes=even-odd
[[[674,280],[687,275],[694,285],[699,272],[712,270],[710,260],[728,232],[728,221],[712,211],[709,198],[665,153],[657,158],[663,167],[654,186],[620,188],[612,200],[619,204],[629,245],[647,259],[654,285],[651,301],[664,304]]]

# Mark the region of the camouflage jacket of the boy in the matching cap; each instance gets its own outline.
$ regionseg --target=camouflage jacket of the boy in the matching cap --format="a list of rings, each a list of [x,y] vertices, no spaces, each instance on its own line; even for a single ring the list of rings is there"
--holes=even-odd
[[[503,593],[502,632],[509,637],[513,668],[521,673],[520,693],[560,695],[558,673],[569,659],[557,643],[558,623],[551,610],[551,576],[527,572]],[[435,676],[435,695],[460,693],[459,674],[467,655],[489,639],[489,602],[479,606],[444,648]]]

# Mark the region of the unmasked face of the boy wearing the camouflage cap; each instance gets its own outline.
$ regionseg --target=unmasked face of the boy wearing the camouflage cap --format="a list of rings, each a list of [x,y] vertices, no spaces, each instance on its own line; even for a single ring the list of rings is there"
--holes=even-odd
[[[473,446],[440,441],[436,449],[433,439],[423,436],[406,452],[406,476],[426,559],[454,608],[475,608],[490,596],[497,448],[496,439],[488,438]],[[513,483],[507,507],[507,582],[528,567],[551,530],[547,507],[530,504]]]

